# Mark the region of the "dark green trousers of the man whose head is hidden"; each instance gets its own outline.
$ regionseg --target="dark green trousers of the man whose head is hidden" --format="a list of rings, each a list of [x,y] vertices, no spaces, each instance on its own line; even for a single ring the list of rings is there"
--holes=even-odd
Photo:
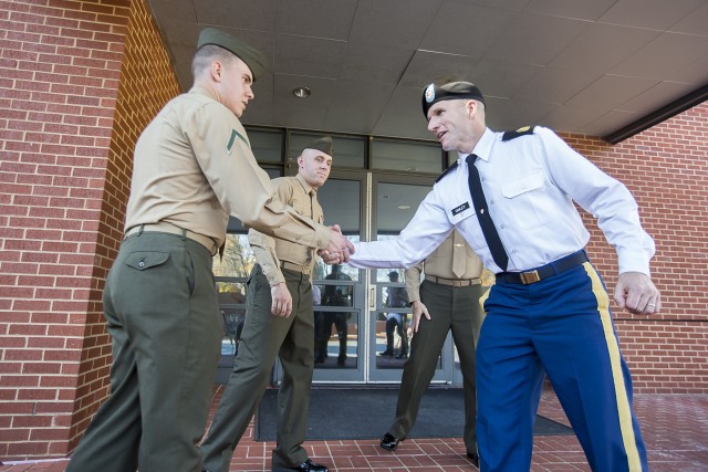
[[[455,289],[430,281],[420,285],[420,301],[428,308],[431,319],[423,316],[418,332],[413,335],[410,357],[404,366],[400,380],[396,419],[388,429],[394,437],[405,438],[415,424],[420,400],[433,380],[438,357],[451,329],[465,389],[465,445],[467,452],[477,452],[475,345],[482,324],[479,307],[481,294],[481,285]]]

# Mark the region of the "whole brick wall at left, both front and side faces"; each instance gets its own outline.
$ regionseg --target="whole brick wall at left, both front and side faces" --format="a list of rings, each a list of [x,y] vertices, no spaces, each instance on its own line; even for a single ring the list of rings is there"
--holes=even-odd
[[[3,1],[0,23],[0,458],[65,455],[108,391],[131,151],[178,87],[144,0]]]

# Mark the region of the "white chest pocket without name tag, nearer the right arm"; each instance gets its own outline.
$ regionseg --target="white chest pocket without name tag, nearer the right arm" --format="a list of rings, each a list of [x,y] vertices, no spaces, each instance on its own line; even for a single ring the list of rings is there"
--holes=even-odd
[[[532,170],[503,183],[501,193],[520,228],[537,228],[550,221],[553,206],[542,170]]]

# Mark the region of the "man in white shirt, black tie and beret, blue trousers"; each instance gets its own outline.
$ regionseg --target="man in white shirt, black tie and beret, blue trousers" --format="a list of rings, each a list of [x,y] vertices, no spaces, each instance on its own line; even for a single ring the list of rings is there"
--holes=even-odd
[[[614,300],[637,315],[660,311],[649,276],[654,241],[618,180],[551,129],[494,133],[470,82],[430,84],[423,113],[459,159],[437,180],[399,237],[355,243],[357,268],[407,268],[458,229],[496,283],[477,345],[477,439],[482,471],[529,470],[544,373],[592,470],[646,471],[632,378],[610,295],[591,263],[577,208],[597,219],[617,253]],[[321,251],[325,262],[340,254]]]

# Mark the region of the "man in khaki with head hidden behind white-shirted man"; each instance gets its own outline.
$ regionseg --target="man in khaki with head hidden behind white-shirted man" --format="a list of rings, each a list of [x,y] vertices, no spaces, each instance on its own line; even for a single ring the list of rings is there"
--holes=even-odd
[[[410,357],[403,369],[396,418],[381,440],[382,448],[395,450],[414,427],[420,400],[433,380],[445,339],[451,331],[465,390],[465,447],[472,463],[479,465],[475,426],[475,345],[483,317],[479,305],[482,271],[481,261],[457,230],[425,261],[406,270],[414,335]],[[425,273],[423,283],[421,273]]]

